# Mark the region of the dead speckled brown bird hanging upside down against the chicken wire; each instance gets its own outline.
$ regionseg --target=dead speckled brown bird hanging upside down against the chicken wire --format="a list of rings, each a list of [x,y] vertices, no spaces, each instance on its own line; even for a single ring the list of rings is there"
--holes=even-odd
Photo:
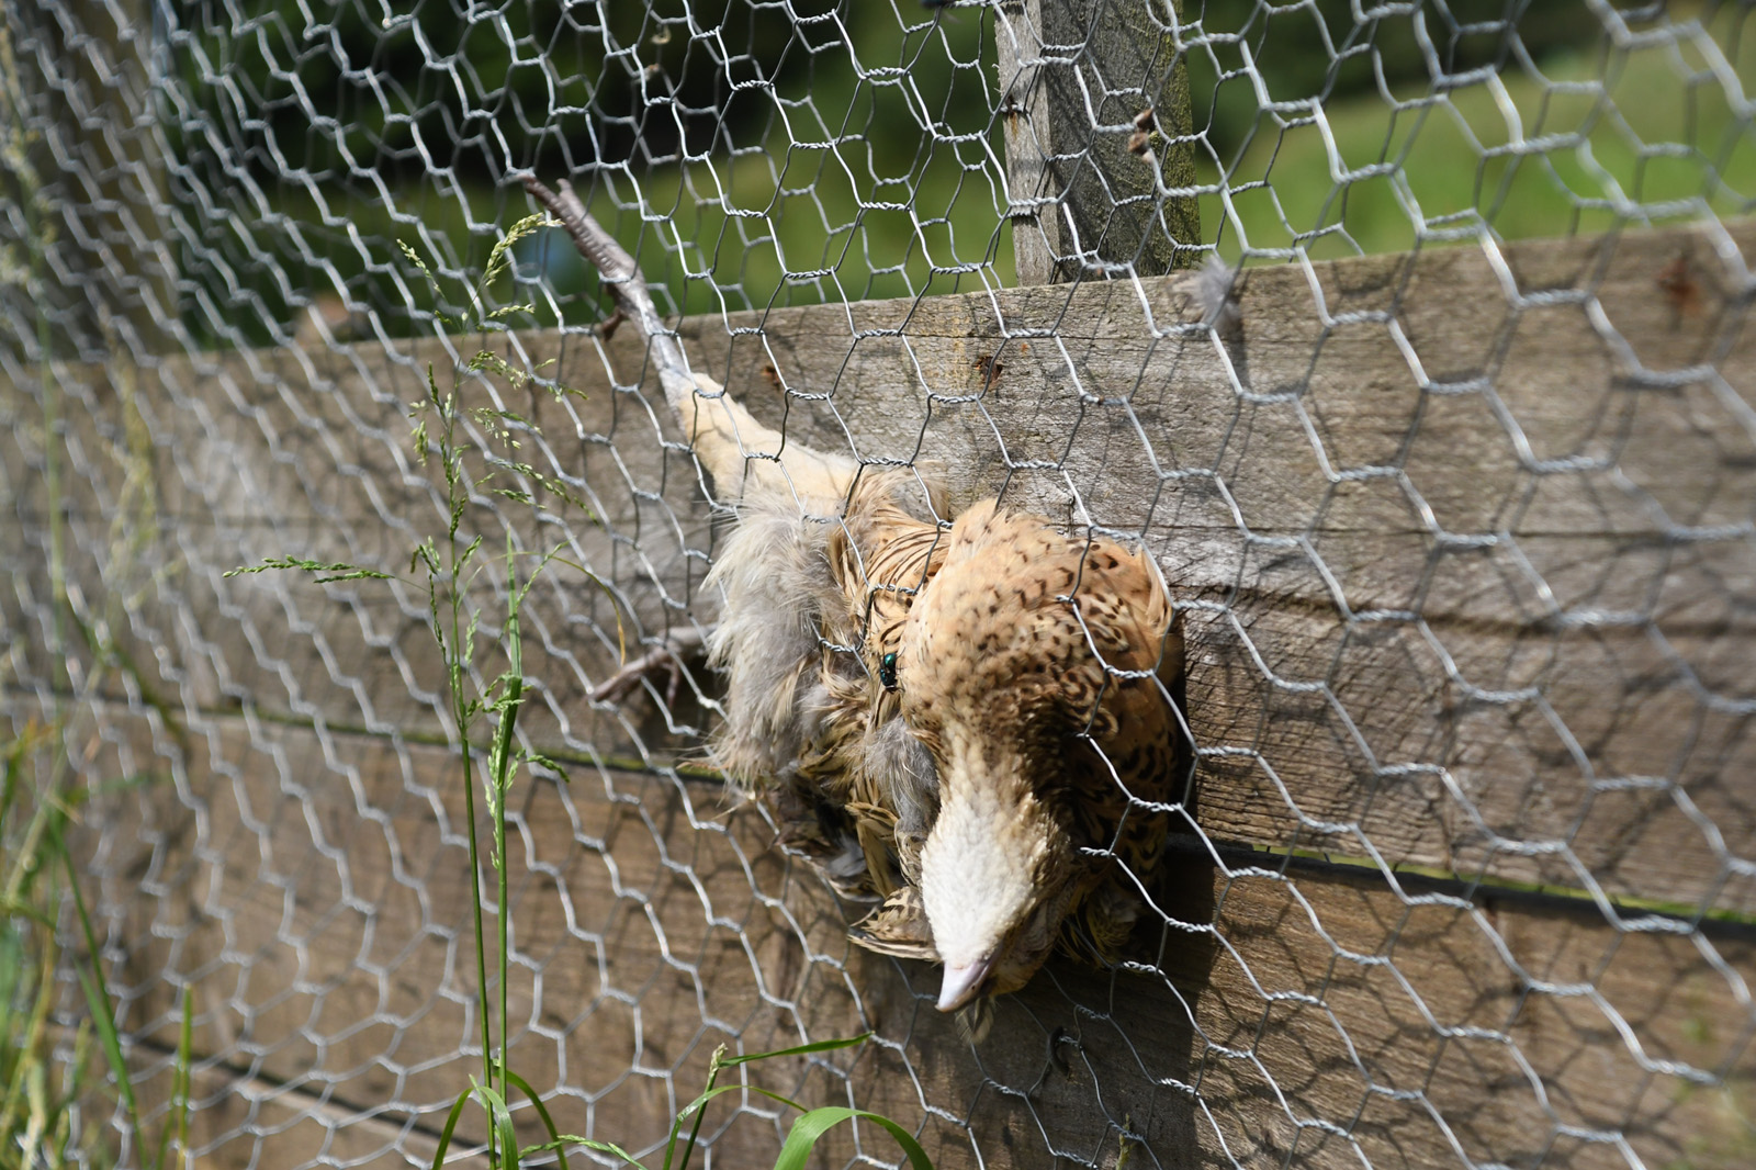
[[[1143,552],[759,423],[688,371],[623,251],[536,179],[648,337],[671,409],[739,518],[709,585],[727,675],[715,755],[795,843],[883,905],[864,947],[945,963],[939,1008],[1022,987],[1057,943],[1115,961],[1189,780],[1182,632]]]

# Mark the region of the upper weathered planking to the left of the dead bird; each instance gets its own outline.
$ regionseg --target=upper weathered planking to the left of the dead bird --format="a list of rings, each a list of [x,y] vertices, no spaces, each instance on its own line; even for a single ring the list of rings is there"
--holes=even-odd
[[[444,360],[434,343],[416,353]],[[406,402],[423,394],[420,362],[376,350],[320,372],[304,355],[262,351],[142,371],[56,371],[74,604],[83,624],[107,627],[130,655],[140,687],[191,708],[248,699],[341,726],[444,733],[444,664],[425,627],[427,597],[407,573],[413,545],[443,534],[446,508],[437,469],[418,466],[407,448]],[[112,376],[123,372],[130,378]],[[472,402],[492,401],[478,390]],[[507,406],[530,409],[527,401]],[[699,741],[699,710],[594,708],[585,696],[615,671],[623,641],[636,652],[643,636],[692,622],[709,520],[692,504],[692,462],[660,451],[637,395],[604,392],[594,406],[602,408],[590,418],[601,434],[546,453],[585,467],[576,490],[599,522],[572,511],[565,522],[536,524],[529,509],[478,494],[465,529],[490,546],[504,546],[507,524],[527,548],[571,539],[567,557],[615,585],[611,594],[557,569],[532,596],[525,632],[543,683],[534,734],[576,750],[604,745],[669,759]],[[7,416],[18,443],[7,441],[0,457],[5,488],[26,518],[7,536],[21,541],[16,562],[37,587],[7,599],[4,622],[19,631],[14,650],[28,655],[19,676],[46,678],[47,499],[40,430],[30,434],[40,416],[30,397],[12,397]],[[557,429],[564,423],[571,432],[565,420]],[[627,466],[618,443],[630,451]],[[320,590],[297,574],[223,580],[283,553],[367,564],[414,585]],[[492,578],[476,585],[492,597]],[[492,678],[499,664],[481,669]],[[694,694],[681,689],[683,699]]]

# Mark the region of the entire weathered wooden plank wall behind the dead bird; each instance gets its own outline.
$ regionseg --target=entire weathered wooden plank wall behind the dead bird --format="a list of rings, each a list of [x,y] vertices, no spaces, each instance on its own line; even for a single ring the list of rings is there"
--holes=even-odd
[[[706,675],[674,708],[590,703],[636,641],[711,618],[713,516],[662,397],[629,385],[629,330],[493,337],[585,392],[511,406],[594,515],[483,499],[471,520],[565,538],[608,583],[551,571],[527,615],[527,733],[571,782],[516,808],[515,1066],[558,1086],[562,1128],[629,1147],[715,1044],[869,1028],[753,1077],[920,1126],[945,1166],[1742,1165],[1752,246],[1733,225],[1252,269],[1229,339],[1187,329],[1189,278],[681,323],[788,441],[939,460],[954,508],[1003,490],[1136,534],[1185,608],[1201,833],[1157,970],[1052,963],[975,1044],[927,968],[850,949],[857,908],[687,768]],[[462,792],[425,601],[221,576],[406,564],[441,506],[406,453],[428,360],[451,357],[0,381],[23,520],[0,534],[5,706],[42,715],[56,678],[51,392],[70,610],[126,662],[76,722],[79,766],[153,778],[100,806],[93,878],[151,1089],[195,989],[211,1165],[395,1161],[467,1084]],[[753,1100],[716,1158],[773,1152],[773,1116]]]

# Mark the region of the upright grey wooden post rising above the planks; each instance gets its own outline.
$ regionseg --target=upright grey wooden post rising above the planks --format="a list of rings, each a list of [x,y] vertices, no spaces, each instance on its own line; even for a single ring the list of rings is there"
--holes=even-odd
[[[1003,0],[996,18],[1020,285],[1192,267],[1201,242],[1182,0]]]

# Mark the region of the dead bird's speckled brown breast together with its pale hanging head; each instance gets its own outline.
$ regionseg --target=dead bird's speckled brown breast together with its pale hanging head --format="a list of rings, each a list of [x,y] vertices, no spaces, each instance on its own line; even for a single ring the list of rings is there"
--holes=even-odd
[[[966,509],[948,543],[890,664],[938,775],[920,892],[945,1012],[1029,982],[1103,880],[1129,805],[1094,745],[1113,745],[1126,717],[1148,741],[1133,757],[1152,761],[1168,711],[1106,668],[1150,669],[1171,620],[1143,555],[994,501]]]

